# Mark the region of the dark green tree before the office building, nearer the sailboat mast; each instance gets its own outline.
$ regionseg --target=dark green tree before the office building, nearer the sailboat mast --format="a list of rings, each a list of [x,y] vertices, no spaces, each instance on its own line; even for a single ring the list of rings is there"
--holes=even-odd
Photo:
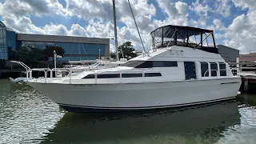
[[[62,48],[62,46],[46,46],[46,49],[43,50],[45,60],[54,58],[54,50],[56,51],[56,54],[61,55],[62,57],[65,54],[65,50]]]

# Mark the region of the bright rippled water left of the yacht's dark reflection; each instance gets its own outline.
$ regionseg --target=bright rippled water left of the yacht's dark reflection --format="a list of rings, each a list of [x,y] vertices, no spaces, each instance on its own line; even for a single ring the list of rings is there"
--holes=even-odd
[[[15,85],[9,84],[10,93],[2,97],[0,104],[1,142],[41,142],[64,113],[30,86]]]

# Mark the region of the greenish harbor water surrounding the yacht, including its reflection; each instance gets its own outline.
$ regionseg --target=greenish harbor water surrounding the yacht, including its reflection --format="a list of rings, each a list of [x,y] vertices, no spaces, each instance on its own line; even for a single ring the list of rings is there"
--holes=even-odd
[[[100,99],[99,99],[100,100]],[[200,106],[67,113],[30,86],[0,80],[0,143],[256,143],[256,95]]]

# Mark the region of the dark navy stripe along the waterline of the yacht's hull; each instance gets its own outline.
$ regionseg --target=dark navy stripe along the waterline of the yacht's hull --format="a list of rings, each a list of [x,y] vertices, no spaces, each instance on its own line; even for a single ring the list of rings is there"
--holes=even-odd
[[[191,103],[184,103],[178,105],[168,105],[168,106],[145,106],[145,107],[101,107],[101,106],[77,106],[77,105],[68,105],[58,103],[59,106],[62,106],[63,109],[70,111],[70,112],[81,112],[81,111],[127,111],[127,110],[146,110],[146,109],[158,109],[158,108],[167,108],[167,107],[177,107],[177,106],[190,106],[190,105],[197,105],[209,102],[219,102],[224,100],[229,100],[235,97],[230,98],[220,98],[216,100],[204,101],[204,102],[191,102]]]

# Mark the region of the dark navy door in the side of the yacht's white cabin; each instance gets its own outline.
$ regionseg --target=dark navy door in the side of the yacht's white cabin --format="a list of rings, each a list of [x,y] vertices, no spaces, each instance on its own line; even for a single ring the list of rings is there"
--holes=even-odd
[[[184,67],[185,67],[185,78],[196,79],[194,62],[184,62]]]

